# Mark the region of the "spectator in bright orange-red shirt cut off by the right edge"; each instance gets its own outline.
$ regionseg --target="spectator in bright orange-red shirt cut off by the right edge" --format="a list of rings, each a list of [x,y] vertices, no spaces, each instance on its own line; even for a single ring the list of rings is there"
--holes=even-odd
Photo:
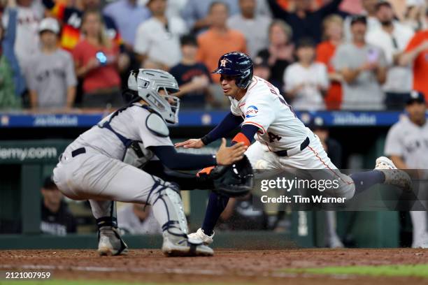
[[[428,29],[418,31],[413,36],[399,61],[401,66],[413,64],[413,89],[422,92],[428,99]]]

